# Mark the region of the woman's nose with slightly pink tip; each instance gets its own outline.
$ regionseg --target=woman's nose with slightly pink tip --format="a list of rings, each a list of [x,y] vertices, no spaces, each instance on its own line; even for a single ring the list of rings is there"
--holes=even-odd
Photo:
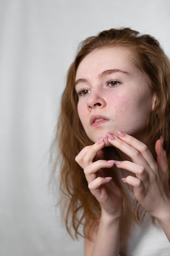
[[[91,91],[87,99],[87,108],[91,110],[92,108],[103,108],[104,106],[106,106],[106,101],[102,93]]]

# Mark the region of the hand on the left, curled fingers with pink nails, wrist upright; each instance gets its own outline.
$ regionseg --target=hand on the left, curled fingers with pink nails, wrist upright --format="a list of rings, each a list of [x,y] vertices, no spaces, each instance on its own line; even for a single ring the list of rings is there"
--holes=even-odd
[[[104,146],[103,138],[92,146],[86,146],[75,157],[75,161],[84,169],[88,188],[101,205],[102,213],[117,219],[123,213],[123,197],[112,177],[107,177],[105,169],[112,168],[114,161],[99,159],[94,162],[96,155],[97,158],[102,156]]]

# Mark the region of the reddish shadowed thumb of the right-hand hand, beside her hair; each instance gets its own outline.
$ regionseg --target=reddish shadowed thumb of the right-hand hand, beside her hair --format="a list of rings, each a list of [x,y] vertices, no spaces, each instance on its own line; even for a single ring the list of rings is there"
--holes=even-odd
[[[168,167],[168,159],[166,155],[166,151],[163,148],[163,137],[156,141],[155,144],[155,152],[157,154],[157,165],[161,169],[161,171],[165,172]]]

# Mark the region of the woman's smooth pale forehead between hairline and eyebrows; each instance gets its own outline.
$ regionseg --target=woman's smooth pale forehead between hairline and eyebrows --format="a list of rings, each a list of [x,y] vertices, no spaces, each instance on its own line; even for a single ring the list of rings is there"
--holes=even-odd
[[[110,69],[130,69],[135,67],[134,56],[125,47],[107,47],[95,49],[84,57],[77,68],[76,79],[81,78],[87,73],[98,75],[104,70]]]

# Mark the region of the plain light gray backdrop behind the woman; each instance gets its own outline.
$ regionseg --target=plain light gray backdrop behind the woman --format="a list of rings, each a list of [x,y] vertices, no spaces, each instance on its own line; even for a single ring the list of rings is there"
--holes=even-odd
[[[49,147],[78,43],[128,26],[170,54],[169,0],[0,0],[0,256],[82,256],[48,192]]]

